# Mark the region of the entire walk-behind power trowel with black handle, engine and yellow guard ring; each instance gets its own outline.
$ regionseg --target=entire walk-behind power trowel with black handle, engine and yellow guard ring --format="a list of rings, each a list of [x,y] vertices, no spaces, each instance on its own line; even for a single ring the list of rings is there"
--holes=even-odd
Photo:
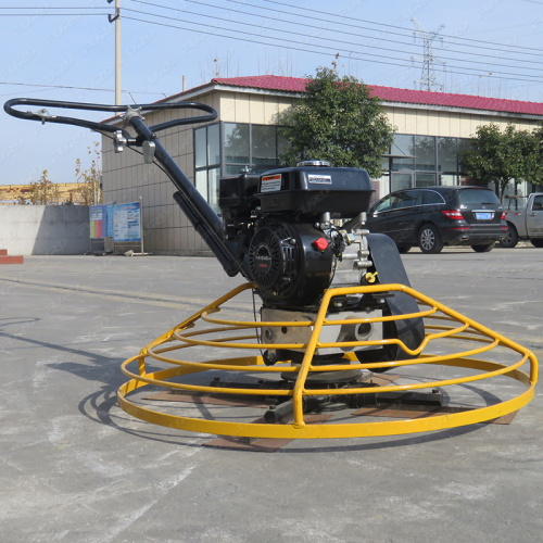
[[[22,106],[40,109],[30,112],[22,111]],[[111,122],[91,122],[59,116],[48,109],[119,116]],[[161,130],[178,125],[212,122],[217,116],[213,108],[194,102],[127,106],[14,99],[5,103],[4,110],[21,118],[97,130],[113,139],[116,152],[131,148],[141,152],[146,162],[156,163],[177,189],[175,201],[226,274],[230,277],[241,274],[249,281],[243,288],[251,289],[261,301],[260,320],[215,318],[222,304],[237,295],[238,291],[230,293],[126,361],[123,370],[132,379],[119,390],[119,404],[139,418],[180,429],[255,438],[352,437],[421,431],[419,425],[409,424],[402,429],[368,427],[367,422],[359,421],[306,425],[304,417],[311,412],[325,411],[331,403],[342,403],[350,408],[375,405],[378,394],[370,377],[391,368],[425,362],[422,349],[429,339],[453,337],[459,328],[471,328],[471,333],[482,334],[487,343],[494,341],[496,334],[465,317],[464,324],[459,328],[450,327],[450,332],[443,331],[446,327],[430,326],[430,333],[428,330],[425,333],[422,317],[433,318],[441,312],[445,317],[440,318],[454,320],[458,314],[413,291],[395,244],[387,236],[370,233],[364,228],[364,214],[372,189],[368,174],[363,169],[332,167],[325,162],[311,161],[263,175],[243,172],[225,177],[219,181],[219,217],[156,136]],[[198,114],[147,126],[143,115],[159,110],[185,110]],[[421,310],[421,306],[429,308]],[[202,319],[220,325],[213,329],[214,333],[253,328],[254,341],[247,343],[232,337],[199,339],[207,333],[206,330],[194,331]],[[231,346],[255,349],[260,354],[201,363],[171,359],[168,356],[176,350],[176,342],[179,349],[205,345],[224,350]],[[517,380],[530,384],[528,392],[519,396],[527,403],[533,394],[531,386],[535,379],[533,355],[525,354],[522,348],[505,338],[500,338],[498,342],[523,354],[523,361],[530,358],[531,377],[516,376]],[[172,363],[174,368],[148,372],[146,362],[149,358]],[[452,365],[453,357],[446,359],[446,364]],[[465,361],[462,362],[462,355],[454,359],[459,361],[459,367],[468,367]],[[428,362],[439,364],[441,359],[430,356]],[[128,369],[131,363],[138,364],[137,374]],[[481,367],[491,372],[497,370],[493,363]],[[238,371],[258,374],[266,378],[247,387],[238,376],[226,381],[215,376],[209,386],[178,382],[179,377],[207,370],[224,370],[230,375]],[[502,369],[502,372],[506,370]],[[236,384],[232,386],[232,382]],[[438,390],[441,382],[444,381],[430,379],[411,388],[407,384],[380,387],[379,397],[382,402],[390,402],[405,399],[411,393],[412,397],[418,394],[416,397],[424,403],[426,400],[420,399],[426,394],[430,403],[441,405],[442,395]],[[148,407],[130,403],[126,397],[148,384],[192,395],[256,395],[274,405],[262,422],[233,420],[236,416],[231,420],[219,421],[215,417],[206,420],[156,414]],[[418,393],[421,388],[430,391]],[[485,413],[483,419],[488,415]],[[453,416],[451,421],[451,415],[433,418],[437,422],[424,429],[466,424],[462,417],[454,419]],[[308,430],[310,426],[312,430]]]

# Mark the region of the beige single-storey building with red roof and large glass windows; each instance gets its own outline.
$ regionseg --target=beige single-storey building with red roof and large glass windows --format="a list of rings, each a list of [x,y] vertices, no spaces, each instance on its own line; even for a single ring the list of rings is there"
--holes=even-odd
[[[186,125],[160,132],[160,140],[194,182],[210,205],[217,207],[218,179],[251,165],[262,173],[280,166],[281,140],[277,114],[302,94],[307,79],[279,76],[216,78],[167,99],[198,101],[215,108],[218,118],[207,125]],[[376,197],[401,188],[458,185],[458,161],[480,125],[515,123],[533,129],[543,121],[543,103],[444,92],[372,87],[396,128],[383,175],[374,180]],[[146,114],[149,124],[178,115]],[[182,110],[181,113],[182,114]],[[138,153],[114,153],[102,142],[104,202],[142,202],[144,247],[155,254],[202,254],[207,247],[173,200],[174,186],[156,166]],[[526,192],[529,187],[519,187]]]

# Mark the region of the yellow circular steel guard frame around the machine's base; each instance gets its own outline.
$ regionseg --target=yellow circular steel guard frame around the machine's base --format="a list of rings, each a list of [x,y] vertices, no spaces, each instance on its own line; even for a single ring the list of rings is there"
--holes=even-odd
[[[415,432],[426,432],[442,430],[459,426],[472,425],[488,421],[503,415],[516,412],[528,404],[534,395],[534,387],[538,380],[538,361],[534,354],[528,349],[514,341],[496,333],[489,328],[473,321],[472,319],[451,310],[443,304],[415,291],[404,285],[375,285],[366,287],[351,287],[340,289],[329,289],[325,292],[317,317],[314,321],[247,321],[218,318],[216,315],[222,308],[227,307],[227,303],[243,291],[254,289],[252,283],[244,283],[233,289],[229,293],[211,303],[203,310],[197,312],[188,319],[172,328],[169,331],[144,346],[141,352],[126,359],[122,364],[122,371],[130,379],[124,383],[117,392],[119,406],[128,414],[151,424],[161,425],[179,430],[204,432],[219,435],[236,435],[245,438],[281,438],[281,439],[320,439],[320,438],[355,438],[370,435],[395,435]],[[418,313],[400,316],[382,316],[372,318],[359,318],[349,320],[327,320],[326,315],[330,301],[334,296],[350,294],[386,294],[388,292],[404,292],[415,298],[421,308]],[[426,307],[426,308],[425,308]],[[324,326],[337,326],[342,324],[378,323],[386,320],[399,320],[406,318],[424,317],[426,323],[426,337],[419,348],[408,349],[399,339],[383,339],[377,341],[355,341],[342,343],[320,343],[319,334]],[[445,324],[429,324],[437,320]],[[451,325],[453,323],[453,325]],[[210,325],[213,325],[210,327]],[[311,339],[307,344],[285,343],[266,344],[258,341],[258,330],[263,327],[283,326],[308,326],[313,328]],[[251,331],[251,333],[248,333]],[[226,337],[223,334],[228,333]],[[219,334],[219,337],[216,337]],[[211,338],[210,338],[211,336]],[[430,345],[439,340],[465,342],[469,346],[457,352],[444,355],[426,354]],[[412,357],[394,362],[380,362],[372,364],[362,364],[354,355],[345,353],[345,364],[314,366],[312,365],[313,354],[317,348],[361,348],[367,345],[399,344]],[[476,343],[477,346],[472,345]],[[237,355],[228,358],[216,358],[207,362],[191,362],[174,358],[172,354],[179,354],[180,351],[190,346],[201,345],[206,349],[231,349],[256,350],[263,349],[304,349],[305,355],[301,365],[265,366],[262,355]],[[488,359],[473,358],[475,355],[489,353],[494,349],[504,350],[507,353],[518,355],[514,363],[502,364]],[[148,372],[149,363],[165,363],[166,369]],[[522,365],[529,363],[529,375],[520,369]],[[137,364],[137,371],[130,369]],[[526,386],[526,390],[515,397],[504,400],[493,405],[485,405],[478,408],[460,413],[447,413],[444,415],[433,415],[424,418],[367,421],[362,418],[353,419],[353,422],[307,424],[303,413],[304,399],[308,395],[330,395],[329,389],[307,388],[307,377],[313,371],[342,371],[345,369],[377,369],[377,368],[401,368],[403,366],[447,366],[475,370],[475,374],[465,375],[450,379],[429,379],[422,382],[408,384],[389,384],[380,387],[379,392],[413,391],[420,389],[437,389],[481,381],[483,379],[506,376]],[[130,367],[130,368],[129,368]],[[190,384],[179,381],[179,378],[200,371],[220,370],[235,374],[252,375],[278,372],[296,374],[292,390],[283,388],[262,388],[248,389]],[[277,376],[276,376],[277,377]],[[175,380],[174,380],[175,379]],[[240,379],[236,378],[236,382]],[[128,397],[132,392],[148,386],[157,386],[167,390],[186,391],[188,393],[203,393],[210,395],[239,394],[258,396],[289,396],[293,401],[293,421],[291,424],[263,424],[242,422],[239,420],[218,420],[213,418],[194,418],[180,415],[172,415],[155,411],[141,402],[136,403],[132,397]],[[355,387],[338,388],[333,394],[369,394],[375,393],[375,388]]]

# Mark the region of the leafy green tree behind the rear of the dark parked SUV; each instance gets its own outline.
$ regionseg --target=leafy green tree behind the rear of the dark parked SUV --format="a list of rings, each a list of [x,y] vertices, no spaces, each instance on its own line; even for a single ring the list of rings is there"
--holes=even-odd
[[[504,131],[495,124],[477,128],[462,155],[463,171],[477,185],[496,181],[502,203],[509,181],[538,185],[543,175],[542,142],[535,132],[517,130],[509,123]]]

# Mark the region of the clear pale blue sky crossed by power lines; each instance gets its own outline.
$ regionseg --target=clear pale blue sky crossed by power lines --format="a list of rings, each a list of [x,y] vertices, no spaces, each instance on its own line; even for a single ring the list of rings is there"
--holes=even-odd
[[[190,89],[213,77],[312,76],[319,66],[367,85],[430,83],[435,91],[543,102],[543,0],[119,2],[123,103],[178,93],[184,76]],[[1,0],[2,103],[113,104],[114,5]],[[0,185],[33,182],[43,171],[73,182],[76,160],[90,165],[98,135],[0,115]]]

